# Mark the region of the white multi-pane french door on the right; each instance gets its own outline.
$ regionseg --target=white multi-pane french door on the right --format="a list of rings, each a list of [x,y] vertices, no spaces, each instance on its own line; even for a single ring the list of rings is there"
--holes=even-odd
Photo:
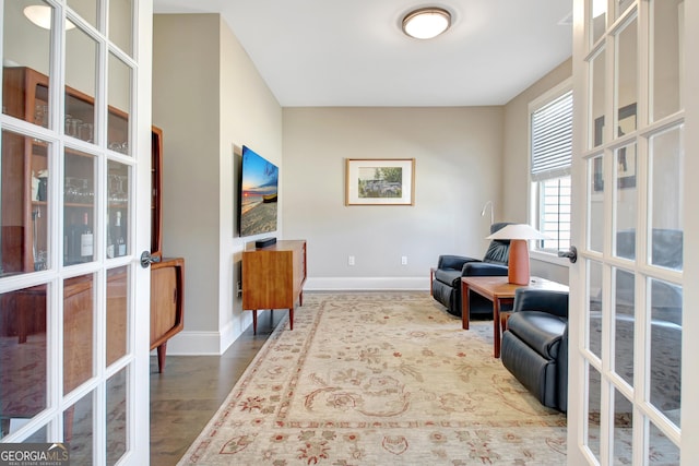
[[[696,464],[697,4],[573,16],[569,464]]]

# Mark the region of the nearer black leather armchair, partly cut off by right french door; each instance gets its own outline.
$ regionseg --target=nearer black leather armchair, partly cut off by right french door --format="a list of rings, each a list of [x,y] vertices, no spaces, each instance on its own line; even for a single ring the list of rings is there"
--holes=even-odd
[[[568,292],[518,288],[502,365],[544,406],[568,410]]]

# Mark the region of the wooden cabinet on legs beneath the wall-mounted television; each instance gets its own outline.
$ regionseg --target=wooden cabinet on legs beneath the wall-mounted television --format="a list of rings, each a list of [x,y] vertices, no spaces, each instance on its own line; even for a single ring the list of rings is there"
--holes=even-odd
[[[256,249],[248,243],[242,252],[242,309],[252,311],[257,334],[260,309],[288,309],[294,330],[294,307],[304,304],[306,241],[286,240]]]

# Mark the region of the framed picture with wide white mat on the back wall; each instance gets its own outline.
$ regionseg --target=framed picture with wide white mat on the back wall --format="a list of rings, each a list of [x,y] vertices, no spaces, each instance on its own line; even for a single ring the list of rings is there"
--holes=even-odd
[[[414,205],[414,158],[347,158],[345,205]]]

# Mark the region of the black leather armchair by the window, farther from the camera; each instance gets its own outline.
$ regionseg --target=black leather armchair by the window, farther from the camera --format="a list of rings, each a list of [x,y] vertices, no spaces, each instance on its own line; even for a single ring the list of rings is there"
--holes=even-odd
[[[505,228],[509,223],[490,225],[490,232]],[[510,241],[493,240],[483,260],[463,255],[440,255],[434,271],[433,297],[447,308],[450,314],[461,316],[461,277],[507,276]],[[475,292],[469,301],[471,316],[493,316],[493,302]]]

